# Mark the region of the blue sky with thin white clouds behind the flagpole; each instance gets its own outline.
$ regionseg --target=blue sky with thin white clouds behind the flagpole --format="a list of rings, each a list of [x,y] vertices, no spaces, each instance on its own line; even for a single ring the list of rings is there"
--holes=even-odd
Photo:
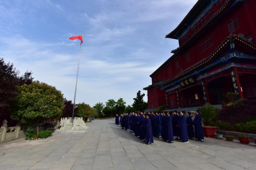
[[[76,103],[131,105],[178,47],[165,35],[196,1],[0,0],[0,57],[73,100],[80,42],[69,37],[83,33]]]

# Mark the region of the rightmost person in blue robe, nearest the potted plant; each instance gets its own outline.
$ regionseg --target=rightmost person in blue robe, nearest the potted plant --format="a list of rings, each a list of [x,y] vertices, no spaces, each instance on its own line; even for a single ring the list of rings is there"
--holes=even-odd
[[[195,127],[195,139],[198,141],[204,141],[204,133],[203,133],[203,128],[202,128],[202,117],[199,114],[200,111],[196,110],[195,111],[195,118],[194,118],[194,127]]]

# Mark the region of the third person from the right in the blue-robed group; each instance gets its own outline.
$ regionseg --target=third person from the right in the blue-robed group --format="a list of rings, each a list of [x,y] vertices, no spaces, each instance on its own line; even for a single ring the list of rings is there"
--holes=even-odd
[[[187,143],[188,137],[187,137],[187,118],[184,115],[185,111],[181,111],[181,116],[179,118],[178,127],[180,129],[180,140]]]

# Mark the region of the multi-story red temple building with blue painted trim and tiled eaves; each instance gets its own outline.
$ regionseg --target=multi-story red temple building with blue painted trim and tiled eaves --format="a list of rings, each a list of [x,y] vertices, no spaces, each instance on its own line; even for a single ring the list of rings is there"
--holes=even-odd
[[[198,0],[166,38],[179,47],[150,77],[148,107],[220,105],[256,98],[256,0]]]

